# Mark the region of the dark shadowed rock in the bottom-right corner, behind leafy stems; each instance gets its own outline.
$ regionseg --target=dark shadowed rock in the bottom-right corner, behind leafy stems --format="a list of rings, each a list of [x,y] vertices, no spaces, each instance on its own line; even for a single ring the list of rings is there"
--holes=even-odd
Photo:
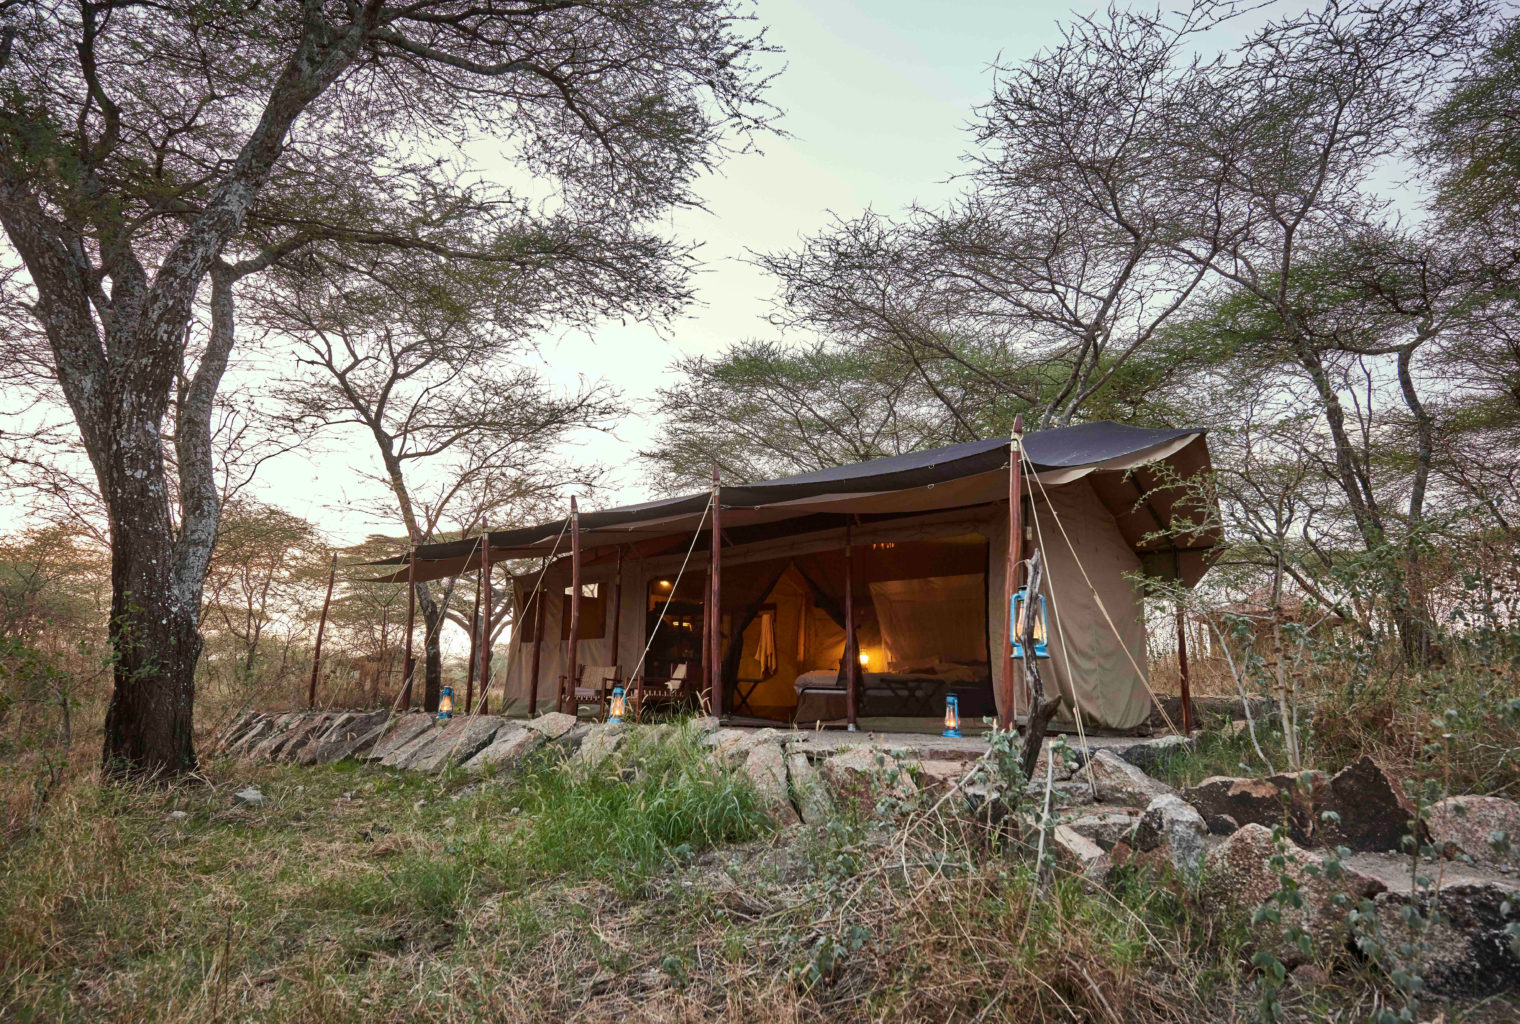
[[[1484,997],[1520,989],[1520,884],[1471,881],[1441,887],[1427,924],[1406,924],[1408,893],[1377,896],[1380,939],[1376,957],[1385,969],[1417,972],[1436,995]]]

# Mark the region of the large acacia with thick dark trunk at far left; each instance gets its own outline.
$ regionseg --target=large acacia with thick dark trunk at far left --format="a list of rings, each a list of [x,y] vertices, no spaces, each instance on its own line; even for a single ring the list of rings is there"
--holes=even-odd
[[[255,211],[318,178],[328,143],[486,132],[572,204],[655,214],[690,201],[725,131],[758,125],[762,47],[727,0],[0,8],[0,226],[109,521],[109,773],[195,764],[211,415],[234,342],[219,267],[304,242],[264,245]],[[208,278],[213,330],[193,349]]]

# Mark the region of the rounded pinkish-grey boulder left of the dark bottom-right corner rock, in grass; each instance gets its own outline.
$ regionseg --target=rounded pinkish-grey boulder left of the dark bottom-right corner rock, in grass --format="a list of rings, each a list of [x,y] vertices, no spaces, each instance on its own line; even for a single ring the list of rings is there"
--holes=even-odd
[[[1263,921],[1254,927],[1252,936],[1260,948],[1271,950],[1292,968],[1304,963],[1309,954],[1287,940],[1286,928],[1294,924],[1301,925],[1319,951],[1344,948],[1350,936],[1347,912],[1354,909],[1359,899],[1382,892],[1385,886],[1350,868],[1345,868],[1336,880],[1327,878],[1324,858],[1319,854],[1298,846],[1290,839],[1284,839],[1278,851],[1272,830],[1251,822],[1205,854],[1201,887],[1204,905],[1228,907],[1249,915],[1266,904],[1281,889],[1280,872],[1271,864],[1278,852],[1286,858],[1281,874],[1297,883],[1303,909],[1277,907],[1281,924]]]

